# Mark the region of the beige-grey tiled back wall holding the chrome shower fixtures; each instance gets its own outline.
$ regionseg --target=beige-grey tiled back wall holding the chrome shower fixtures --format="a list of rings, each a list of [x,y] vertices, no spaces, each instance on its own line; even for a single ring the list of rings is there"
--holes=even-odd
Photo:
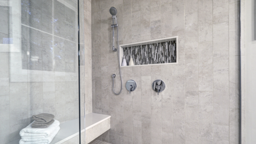
[[[112,52],[111,6],[119,44],[179,36],[179,64],[123,67]],[[111,144],[239,144],[239,0],[92,0],[93,112],[111,115]],[[125,82],[137,89],[129,92]],[[157,95],[151,83],[162,79]]]

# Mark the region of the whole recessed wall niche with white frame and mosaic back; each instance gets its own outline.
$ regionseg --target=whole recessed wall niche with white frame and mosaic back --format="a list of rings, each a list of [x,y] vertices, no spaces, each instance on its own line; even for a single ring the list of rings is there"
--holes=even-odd
[[[178,63],[178,37],[167,37],[119,46],[120,66],[125,57],[127,66],[131,58],[132,66],[164,65]]]

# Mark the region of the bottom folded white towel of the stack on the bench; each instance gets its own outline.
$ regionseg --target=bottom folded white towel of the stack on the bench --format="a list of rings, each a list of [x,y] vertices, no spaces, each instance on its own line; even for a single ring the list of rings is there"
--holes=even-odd
[[[48,137],[46,138],[22,138],[20,139],[19,144],[49,144],[52,142],[52,139],[55,137],[55,135],[60,130],[60,127],[57,127]]]

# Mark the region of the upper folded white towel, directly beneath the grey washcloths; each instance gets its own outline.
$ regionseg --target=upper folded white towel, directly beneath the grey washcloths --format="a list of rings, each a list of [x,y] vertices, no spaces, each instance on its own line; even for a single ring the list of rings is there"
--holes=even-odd
[[[33,121],[34,122],[34,121]],[[49,127],[47,128],[32,128],[32,124],[29,124],[24,129],[20,130],[20,136],[21,138],[26,137],[48,137],[56,128],[60,125],[60,122],[55,120]]]

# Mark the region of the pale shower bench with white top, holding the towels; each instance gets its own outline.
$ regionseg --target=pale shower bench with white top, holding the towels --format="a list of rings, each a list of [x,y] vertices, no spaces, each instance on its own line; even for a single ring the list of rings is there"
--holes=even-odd
[[[85,144],[88,144],[110,129],[110,118],[110,115],[89,113],[85,115],[84,127],[84,117],[81,117],[81,133],[85,130]],[[74,137],[79,137],[79,118],[64,122],[60,124],[60,127],[61,129],[50,144],[66,144],[66,141],[69,141]],[[74,140],[77,141],[77,139],[78,138],[75,138]],[[84,138],[81,138],[81,140],[84,140]],[[18,139],[9,142],[8,144],[19,144],[19,141],[20,140]],[[84,143],[82,142],[81,144]]]

